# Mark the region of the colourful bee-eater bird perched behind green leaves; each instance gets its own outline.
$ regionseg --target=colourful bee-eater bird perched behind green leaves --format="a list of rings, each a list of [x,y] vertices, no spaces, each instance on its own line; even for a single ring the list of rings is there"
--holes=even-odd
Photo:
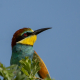
[[[30,60],[34,60],[36,58],[39,60],[39,66],[41,67],[37,73],[38,77],[42,79],[47,77],[51,78],[45,63],[33,49],[33,45],[37,40],[37,35],[48,29],[51,29],[51,27],[41,28],[35,31],[31,28],[21,28],[17,30],[12,37],[12,55],[10,65],[20,65],[19,61],[24,59],[26,56],[29,57]]]

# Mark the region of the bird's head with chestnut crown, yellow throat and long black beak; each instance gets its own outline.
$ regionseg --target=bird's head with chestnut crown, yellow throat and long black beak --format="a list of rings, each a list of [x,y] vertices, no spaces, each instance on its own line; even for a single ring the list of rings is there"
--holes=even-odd
[[[12,38],[11,46],[13,47],[16,44],[25,44],[25,45],[34,45],[37,35],[45,30],[51,28],[42,28],[33,31],[31,28],[22,28],[17,30]]]

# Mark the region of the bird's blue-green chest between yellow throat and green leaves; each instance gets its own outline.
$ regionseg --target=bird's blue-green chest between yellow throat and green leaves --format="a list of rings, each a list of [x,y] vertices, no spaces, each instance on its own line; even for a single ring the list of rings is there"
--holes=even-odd
[[[32,60],[33,54],[33,46],[18,44],[12,49],[11,64],[17,64],[21,59],[24,59],[26,56],[28,56]]]

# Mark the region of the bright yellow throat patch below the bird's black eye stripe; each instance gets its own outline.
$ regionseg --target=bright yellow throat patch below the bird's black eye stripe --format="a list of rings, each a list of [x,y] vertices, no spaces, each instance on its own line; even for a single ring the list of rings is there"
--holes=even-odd
[[[34,45],[35,41],[37,39],[36,35],[32,35],[29,37],[26,37],[24,39],[22,39],[21,41],[18,41],[17,43],[21,43],[21,44],[27,44],[27,45]]]

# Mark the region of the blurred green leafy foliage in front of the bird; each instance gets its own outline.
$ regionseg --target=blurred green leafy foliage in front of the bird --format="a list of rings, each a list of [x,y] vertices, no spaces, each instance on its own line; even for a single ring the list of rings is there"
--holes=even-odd
[[[52,80],[35,77],[35,74],[40,70],[37,60],[31,62],[28,57],[25,57],[25,59],[20,60],[20,63],[20,66],[11,65],[9,67],[0,63],[0,76],[3,77],[3,80]]]

